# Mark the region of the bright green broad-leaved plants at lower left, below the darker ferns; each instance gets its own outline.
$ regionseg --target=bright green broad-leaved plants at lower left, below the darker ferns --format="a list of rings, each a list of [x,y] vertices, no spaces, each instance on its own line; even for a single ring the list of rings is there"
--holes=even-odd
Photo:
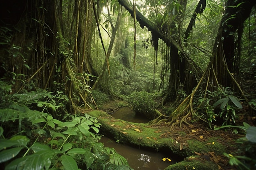
[[[85,114],[70,118],[62,122],[45,114],[34,119],[32,124],[37,127],[33,130],[37,136],[34,141],[24,135],[5,139],[0,127],[0,163],[5,164],[6,170],[78,170],[82,166],[88,170],[119,170],[119,167],[130,170],[124,157],[98,143],[101,124],[95,117]],[[46,141],[39,140],[46,137],[47,131],[50,137]]]

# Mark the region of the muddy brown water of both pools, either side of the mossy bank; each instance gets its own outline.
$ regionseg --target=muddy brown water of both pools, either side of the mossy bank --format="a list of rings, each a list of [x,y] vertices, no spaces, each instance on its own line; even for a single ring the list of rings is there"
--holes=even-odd
[[[149,121],[148,119],[145,119],[145,117],[137,116],[135,112],[128,107],[120,108],[111,116],[116,119],[135,123],[147,123]],[[117,153],[128,160],[130,167],[134,170],[164,170],[167,166],[176,163],[169,154],[134,148],[125,144],[117,143],[105,136],[101,137],[100,142],[104,143],[104,146],[106,147],[115,148]],[[166,157],[171,159],[171,161],[168,161],[167,159],[166,161],[162,160]]]

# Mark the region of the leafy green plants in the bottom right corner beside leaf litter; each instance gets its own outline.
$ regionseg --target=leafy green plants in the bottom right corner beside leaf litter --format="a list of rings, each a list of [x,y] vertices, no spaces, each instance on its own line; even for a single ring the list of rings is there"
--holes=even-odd
[[[245,132],[245,137],[237,139],[237,143],[240,144],[239,150],[237,150],[236,155],[231,155],[223,153],[228,159],[231,166],[236,166],[239,170],[252,170],[256,168],[256,127],[250,126],[247,123],[243,123],[243,126],[221,126],[215,128],[219,130],[221,128],[235,128],[241,129]]]

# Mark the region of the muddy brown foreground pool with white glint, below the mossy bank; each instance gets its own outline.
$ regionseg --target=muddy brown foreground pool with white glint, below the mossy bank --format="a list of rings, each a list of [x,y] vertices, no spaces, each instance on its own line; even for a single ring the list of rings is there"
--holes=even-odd
[[[115,148],[117,153],[122,155],[128,160],[131,168],[134,170],[164,170],[167,166],[175,163],[175,161],[162,161],[164,157],[170,157],[170,155],[164,155],[159,152],[151,152],[148,150],[140,150],[139,148],[133,148],[124,144],[118,144],[108,137],[101,137],[101,141],[104,146],[109,148]]]

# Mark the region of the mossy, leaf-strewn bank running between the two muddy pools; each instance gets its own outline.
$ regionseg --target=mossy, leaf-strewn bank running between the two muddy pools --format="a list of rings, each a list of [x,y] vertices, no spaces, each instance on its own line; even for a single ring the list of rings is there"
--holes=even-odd
[[[88,114],[97,117],[102,124],[101,133],[115,141],[137,148],[159,152],[164,150],[170,152],[170,155],[185,158],[165,170],[218,170],[219,167],[227,166],[228,160],[223,152],[230,153],[229,150],[236,148],[233,134],[222,131],[205,130],[197,126],[170,130],[164,124],[140,124],[115,119],[99,110]]]

